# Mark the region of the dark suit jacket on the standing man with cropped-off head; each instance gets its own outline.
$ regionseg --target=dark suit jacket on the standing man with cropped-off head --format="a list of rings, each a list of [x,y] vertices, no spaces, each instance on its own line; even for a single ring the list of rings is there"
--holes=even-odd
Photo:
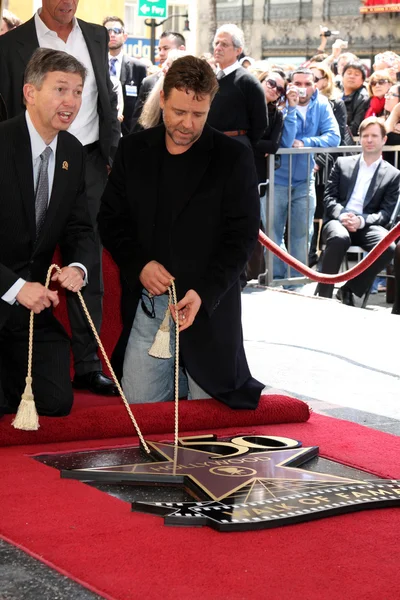
[[[117,119],[117,96],[113,91],[108,67],[108,32],[105,27],[78,19],[89,51],[96,78],[99,113],[99,142],[107,162],[113,158],[121,128]],[[0,94],[3,96],[8,117],[24,111],[24,72],[33,52],[39,47],[35,20],[30,19],[20,27],[0,36]]]

